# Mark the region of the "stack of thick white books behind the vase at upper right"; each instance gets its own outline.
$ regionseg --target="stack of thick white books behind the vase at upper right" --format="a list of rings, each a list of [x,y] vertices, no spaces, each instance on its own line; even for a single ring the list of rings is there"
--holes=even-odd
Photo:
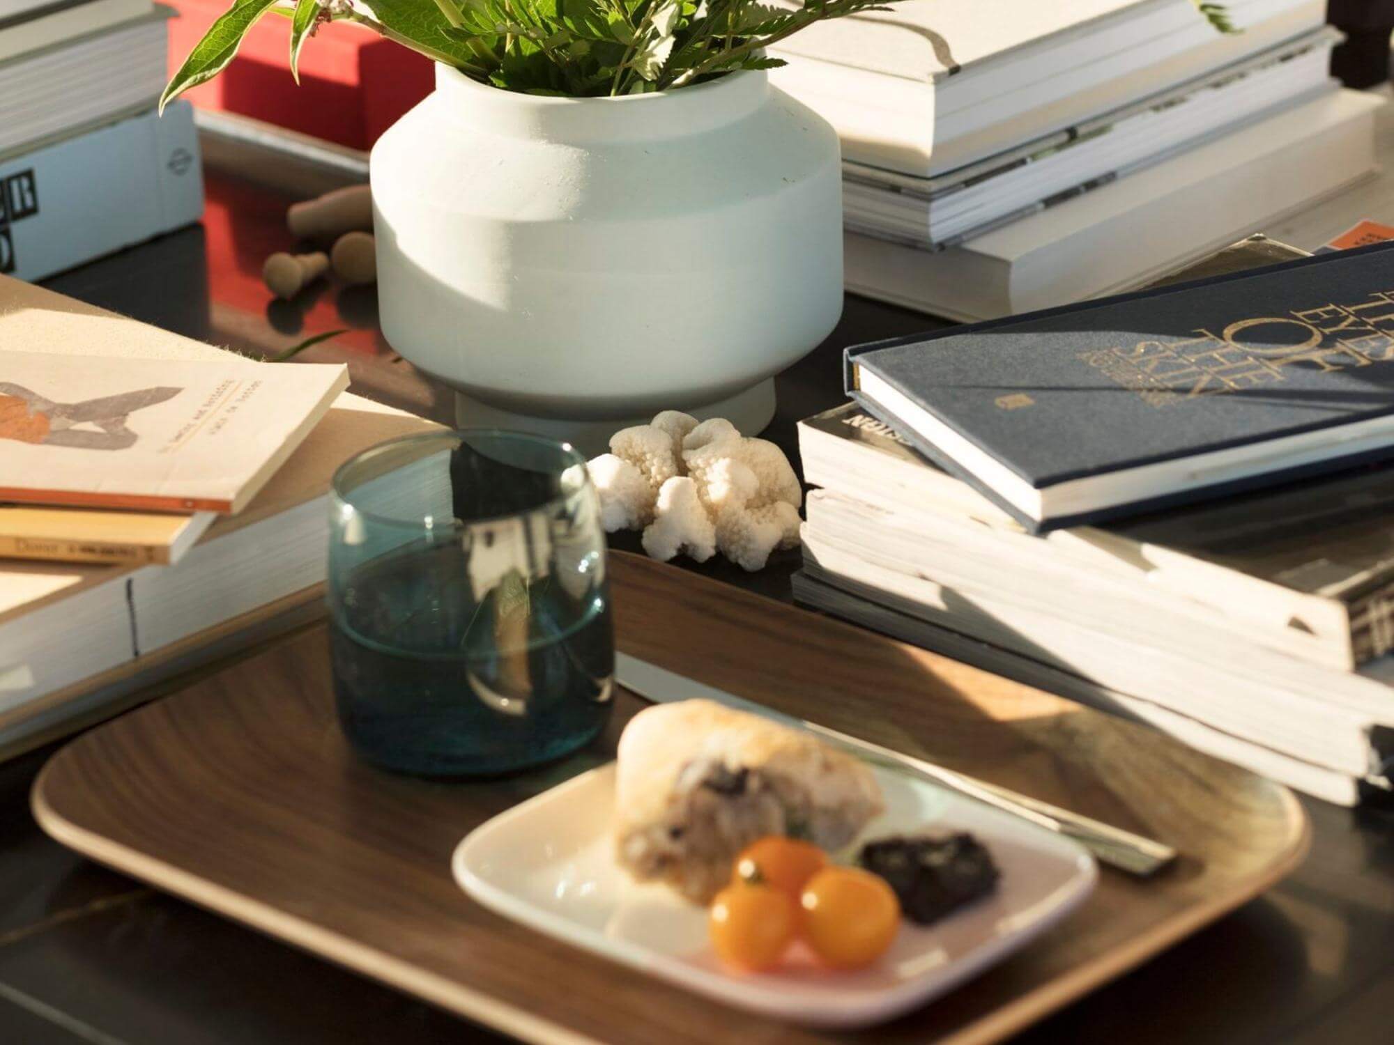
[[[1374,170],[1324,0],[909,0],[775,49],[838,128],[849,288],[955,319],[1158,273]]]

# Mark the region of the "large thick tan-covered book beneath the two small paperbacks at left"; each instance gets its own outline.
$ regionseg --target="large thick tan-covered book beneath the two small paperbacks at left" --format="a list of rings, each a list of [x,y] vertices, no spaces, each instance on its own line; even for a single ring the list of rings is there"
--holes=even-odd
[[[130,364],[261,366],[4,276],[0,302],[32,314],[25,341],[32,351],[61,355],[81,346]],[[432,428],[340,393],[247,510],[219,517],[177,566],[0,560],[0,758],[116,713],[162,679],[322,613],[335,470],[385,439]]]

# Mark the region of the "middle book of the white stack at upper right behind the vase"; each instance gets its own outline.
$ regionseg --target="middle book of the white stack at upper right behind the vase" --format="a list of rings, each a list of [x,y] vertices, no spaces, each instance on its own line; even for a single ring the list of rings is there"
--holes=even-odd
[[[963,178],[887,176],[843,170],[842,212],[859,230],[952,247],[1143,170],[1330,86],[1331,28],[1227,65],[1199,82],[1144,99],[1076,128],[1059,145],[1034,144],[1004,156],[995,170]]]

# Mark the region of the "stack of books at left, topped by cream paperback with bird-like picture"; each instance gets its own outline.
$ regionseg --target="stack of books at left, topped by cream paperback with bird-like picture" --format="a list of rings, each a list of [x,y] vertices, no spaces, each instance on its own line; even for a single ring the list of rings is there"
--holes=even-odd
[[[0,277],[0,758],[319,614],[335,470],[431,428]]]

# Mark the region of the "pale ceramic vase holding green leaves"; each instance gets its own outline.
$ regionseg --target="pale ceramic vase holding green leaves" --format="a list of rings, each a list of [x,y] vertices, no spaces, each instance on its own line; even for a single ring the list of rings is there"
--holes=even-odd
[[[764,72],[567,99],[438,65],[372,198],[383,333],[467,425],[587,450],[669,408],[756,432],[842,311],[838,139]]]

